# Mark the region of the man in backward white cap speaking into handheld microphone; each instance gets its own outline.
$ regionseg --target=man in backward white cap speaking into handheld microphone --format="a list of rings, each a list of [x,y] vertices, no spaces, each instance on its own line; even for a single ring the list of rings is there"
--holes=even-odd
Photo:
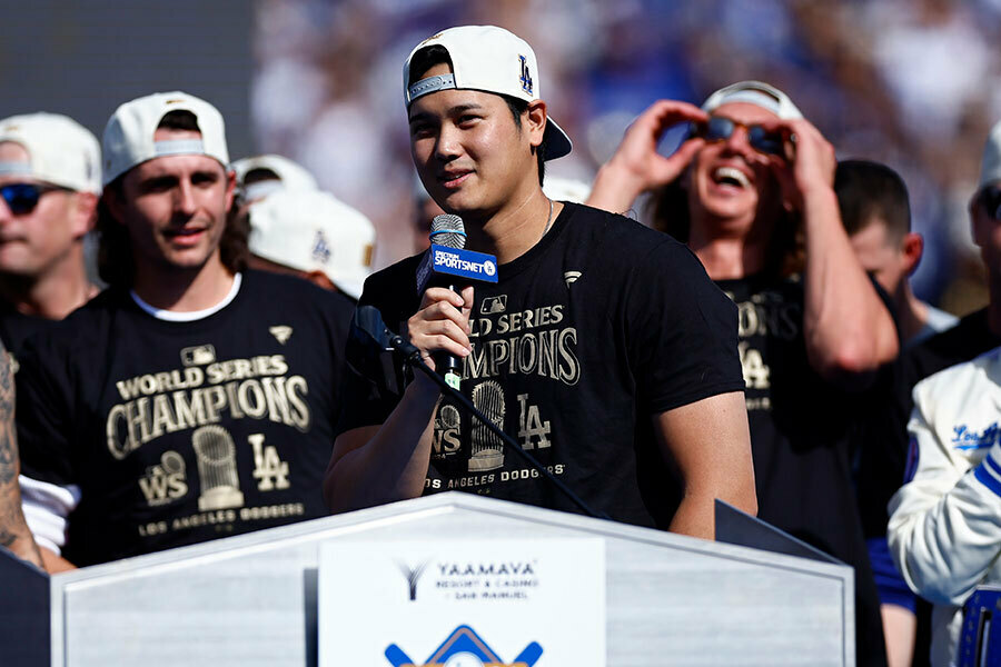
[[[474,406],[611,518],[712,538],[714,498],[753,514],[736,309],[672,238],[543,193],[571,141],[532,48],[445,30],[407,58],[404,93],[420,180],[496,282],[425,287],[416,256],[371,276],[360,305],[432,367],[456,357]],[[430,379],[398,375],[349,372],[333,511],[446,490],[575,509]]]

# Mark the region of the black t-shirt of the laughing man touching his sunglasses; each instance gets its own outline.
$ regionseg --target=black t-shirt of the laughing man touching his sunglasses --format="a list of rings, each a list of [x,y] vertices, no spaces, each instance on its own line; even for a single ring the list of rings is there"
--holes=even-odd
[[[884,665],[879,598],[852,484],[858,410],[868,394],[810,366],[799,279],[717,280],[737,305],[757,516],[855,568],[860,665]]]

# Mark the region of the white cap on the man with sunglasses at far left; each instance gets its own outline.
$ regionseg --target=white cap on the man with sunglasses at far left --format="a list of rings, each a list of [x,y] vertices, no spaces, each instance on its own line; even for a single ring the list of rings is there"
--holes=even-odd
[[[27,162],[0,162],[0,175],[26,176],[78,192],[101,193],[101,148],[97,137],[58,113],[26,113],[0,120],[0,142],[13,141]]]

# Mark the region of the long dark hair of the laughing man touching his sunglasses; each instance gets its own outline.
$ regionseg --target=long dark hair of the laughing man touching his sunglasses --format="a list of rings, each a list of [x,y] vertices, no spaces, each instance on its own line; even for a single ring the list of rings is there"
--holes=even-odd
[[[688,191],[681,181],[682,177],[678,177],[654,190],[646,205],[646,213],[654,229],[687,245],[692,218],[688,210]],[[765,271],[773,276],[792,276],[803,271],[805,260],[803,220],[799,212],[783,208],[769,241]]]

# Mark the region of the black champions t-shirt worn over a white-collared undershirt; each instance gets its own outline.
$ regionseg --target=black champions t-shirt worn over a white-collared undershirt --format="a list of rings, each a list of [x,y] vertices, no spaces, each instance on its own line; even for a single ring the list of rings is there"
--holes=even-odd
[[[325,516],[353,308],[246,271],[235,299],[174,322],[106,290],[29,342],[22,472],[81,500],[66,557],[90,565]]]

